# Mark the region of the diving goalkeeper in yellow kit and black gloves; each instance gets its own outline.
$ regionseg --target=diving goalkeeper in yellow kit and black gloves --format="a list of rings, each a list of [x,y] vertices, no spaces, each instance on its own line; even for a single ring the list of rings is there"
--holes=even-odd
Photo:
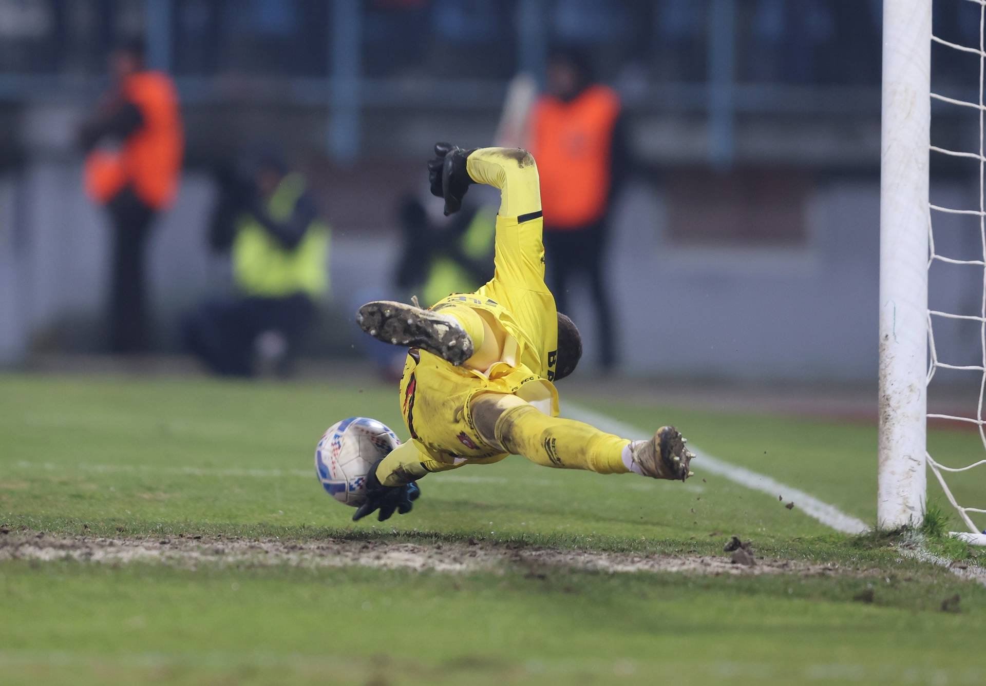
[[[379,301],[357,321],[371,336],[409,348],[400,408],[411,440],[367,476],[367,501],[353,519],[404,514],[429,472],[490,464],[516,453],[549,467],[600,474],[634,472],[684,481],[693,457],[673,427],[630,441],[558,417],[553,381],[582,356],[579,330],[556,311],[544,284],[537,167],[519,148],[464,151],[435,146],[431,192],[458,211],[472,183],[500,189],[493,279],[475,293],[451,295],[431,309]]]

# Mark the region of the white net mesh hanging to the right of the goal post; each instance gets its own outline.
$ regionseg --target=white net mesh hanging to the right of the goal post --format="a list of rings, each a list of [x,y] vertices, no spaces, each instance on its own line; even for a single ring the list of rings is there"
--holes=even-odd
[[[947,312],[939,309],[929,309],[928,310],[928,342],[930,351],[930,363],[928,367],[928,383],[930,384],[932,379],[935,377],[936,372],[939,370],[951,370],[958,373],[965,374],[976,374],[979,376],[979,397],[976,404],[976,412],[974,417],[970,416],[957,416],[950,414],[936,414],[929,413],[929,419],[936,420],[949,420],[954,422],[963,422],[967,424],[972,424],[976,427],[979,432],[979,438],[986,447],[986,420],[983,419],[983,396],[986,393],[986,196],[984,196],[984,189],[986,189],[986,156],[984,156],[984,115],[986,115],[986,105],[983,101],[983,83],[984,83],[984,69],[986,69],[986,43],[984,43],[984,31],[983,28],[986,26],[986,0],[940,0],[940,2],[952,2],[958,4],[964,4],[967,8],[969,5],[977,6],[976,11],[978,12],[979,20],[979,42],[978,45],[963,44],[961,42],[945,39],[938,34],[938,28],[936,27],[935,32],[932,34],[932,41],[940,45],[946,50],[957,50],[960,53],[966,53],[967,56],[971,58],[978,58],[979,62],[979,88],[978,88],[978,99],[975,101],[965,99],[965,98],[952,98],[949,96],[936,93],[933,86],[933,91],[931,93],[931,98],[937,103],[942,103],[942,107],[962,107],[966,111],[972,110],[978,114],[978,138],[979,147],[978,150],[954,150],[951,147],[939,147],[933,145],[931,150],[934,154],[944,155],[951,158],[959,158],[964,160],[971,160],[976,165],[978,165],[979,170],[979,207],[978,209],[970,208],[953,208],[944,207],[942,205],[931,204],[931,217],[932,222],[929,224],[929,259],[928,268],[931,270],[932,266],[938,263],[943,263],[947,265],[956,266],[957,268],[972,268],[981,271],[981,281],[977,283],[981,286],[982,294],[979,299],[979,313],[978,314],[968,314],[968,313],[955,313]],[[967,25],[968,26],[968,25]],[[973,32],[974,34],[974,32]],[[951,36],[950,36],[951,37]],[[935,246],[935,219],[941,215],[952,215],[960,216],[968,221],[975,222],[979,229],[979,243],[980,251],[974,259],[960,259],[955,256],[950,256],[947,254],[939,254],[936,251]],[[942,320],[952,320],[952,321],[967,321],[974,322],[978,325],[979,329],[979,359],[977,364],[963,365],[963,364],[951,364],[948,361],[943,361],[939,357],[939,350],[936,346],[935,341],[935,326],[936,322],[941,322]],[[947,461],[948,455],[939,455],[942,460]],[[980,529],[976,526],[970,514],[986,514],[986,510],[969,507],[960,504],[952,491],[950,486],[951,481],[958,479],[960,477],[954,476],[960,472],[967,472],[971,469],[986,469],[986,458],[974,461],[970,464],[965,465],[947,465],[945,461],[940,461],[936,456],[932,455],[930,452],[928,454],[928,464],[938,479],[938,482],[942,485],[942,489],[945,491],[946,497],[949,499],[952,507],[958,512],[962,520],[968,527],[968,530],[972,533],[979,533]]]

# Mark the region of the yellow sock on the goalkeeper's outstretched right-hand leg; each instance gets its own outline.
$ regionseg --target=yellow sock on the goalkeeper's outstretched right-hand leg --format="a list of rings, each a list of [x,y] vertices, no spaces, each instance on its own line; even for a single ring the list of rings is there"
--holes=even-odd
[[[626,439],[571,419],[549,417],[532,405],[512,407],[493,430],[504,449],[546,467],[588,469],[600,474],[623,474]]]

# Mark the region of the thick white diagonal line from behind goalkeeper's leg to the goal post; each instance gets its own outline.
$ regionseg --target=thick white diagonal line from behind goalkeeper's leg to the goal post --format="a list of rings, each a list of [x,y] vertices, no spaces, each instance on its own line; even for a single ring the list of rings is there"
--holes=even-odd
[[[565,406],[567,409],[565,414],[568,417],[585,422],[586,424],[592,424],[602,431],[625,437],[640,435],[640,429],[620,422],[612,417],[570,402],[565,403]],[[836,531],[842,531],[843,533],[862,533],[870,529],[870,526],[862,519],[858,519],[851,514],[845,514],[835,506],[824,503],[801,489],[793,488],[751,469],[746,469],[745,467],[731,464],[718,457],[713,457],[707,452],[696,449],[691,444],[688,444],[688,447],[695,453],[695,458],[698,460],[695,462],[696,470],[723,476],[730,481],[740,484],[740,486],[767,493],[772,498],[783,495],[786,499],[797,502],[798,508],[805,514]]]

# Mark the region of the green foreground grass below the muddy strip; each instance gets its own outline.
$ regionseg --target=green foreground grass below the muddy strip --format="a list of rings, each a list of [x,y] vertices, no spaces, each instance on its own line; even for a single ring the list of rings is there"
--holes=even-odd
[[[8,565],[3,574],[0,668],[27,662],[32,677],[90,661],[140,673],[155,658],[178,683],[210,667],[232,678],[254,670],[278,680],[286,670],[306,682],[329,673],[344,683],[378,674],[422,684],[653,683],[658,674],[703,684],[764,672],[780,683],[838,682],[842,670],[862,683],[943,669],[949,683],[983,676],[986,598],[947,578],[929,593],[900,578],[541,580],[72,564]],[[875,602],[854,601],[868,584]],[[964,614],[938,610],[938,596],[952,592],[962,593]],[[48,651],[38,647],[56,666],[41,666]]]

